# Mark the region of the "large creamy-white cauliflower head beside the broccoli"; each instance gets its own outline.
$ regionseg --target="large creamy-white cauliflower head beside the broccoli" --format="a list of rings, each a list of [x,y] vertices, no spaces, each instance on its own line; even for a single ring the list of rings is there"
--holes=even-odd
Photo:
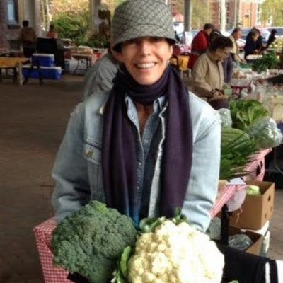
[[[128,262],[130,283],[219,283],[224,255],[187,222],[166,220],[142,234]]]

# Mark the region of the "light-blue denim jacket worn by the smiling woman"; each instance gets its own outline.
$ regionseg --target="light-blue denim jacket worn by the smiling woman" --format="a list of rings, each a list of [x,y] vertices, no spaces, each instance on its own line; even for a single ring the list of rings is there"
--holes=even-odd
[[[103,108],[108,93],[97,93],[80,103],[71,115],[59,148],[52,176],[56,181],[52,205],[57,221],[87,204],[90,200],[105,201],[101,149]],[[221,121],[218,113],[193,93],[190,97],[192,120],[192,169],[182,213],[190,223],[206,231],[218,188]],[[167,106],[165,106],[166,108]],[[151,183],[149,216],[158,211],[162,141],[165,137],[166,109],[160,113],[162,137],[156,153]]]

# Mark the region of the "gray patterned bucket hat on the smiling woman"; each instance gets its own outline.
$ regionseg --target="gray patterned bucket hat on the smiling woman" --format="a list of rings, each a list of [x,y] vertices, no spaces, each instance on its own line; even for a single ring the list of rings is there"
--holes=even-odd
[[[112,46],[142,36],[165,37],[175,42],[168,6],[155,0],[128,0],[117,6],[112,19]]]

